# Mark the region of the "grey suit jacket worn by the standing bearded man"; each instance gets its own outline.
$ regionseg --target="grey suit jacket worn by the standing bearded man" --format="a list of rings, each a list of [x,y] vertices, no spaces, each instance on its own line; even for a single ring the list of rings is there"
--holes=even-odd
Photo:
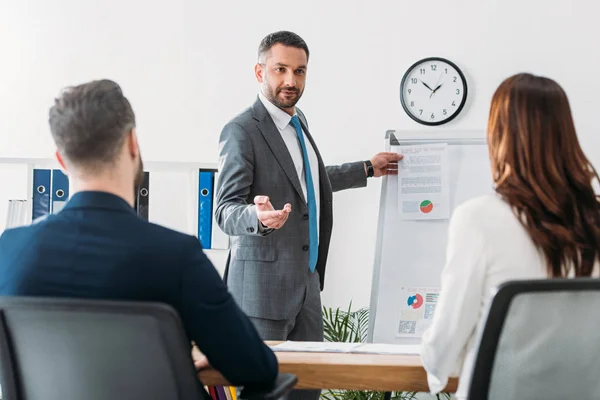
[[[321,210],[317,271],[321,290],[333,225],[332,192],[364,187],[364,164],[325,167],[300,110],[302,128],[319,160]],[[300,177],[279,130],[257,99],[233,118],[220,137],[219,179],[215,218],[232,236],[226,280],[249,316],[287,319],[299,311],[311,274],[308,268],[308,208]],[[285,225],[259,229],[254,197],[267,195],[276,209],[292,205]]]

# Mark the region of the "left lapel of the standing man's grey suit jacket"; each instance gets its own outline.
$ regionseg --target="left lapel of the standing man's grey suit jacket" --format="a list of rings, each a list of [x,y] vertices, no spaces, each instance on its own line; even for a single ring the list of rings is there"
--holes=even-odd
[[[264,136],[267,144],[271,148],[271,152],[273,152],[273,155],[277,159],[279,165],[281,165],[281,168],[292,183],[292,186],[294,189],[296,189],[296,192],[298,192],[300,198],[306,202],[292,156],[290,156],[290,152],[288,151],[287,146],[285,145],[285,142],[279,133],[279,130],[275,126],[275,123],[271,119],[271,116],[267,112],[267,109],[262,104],[260,99],[257,99],[254,103],[253,112],[254,119],[258,121],[256,124],[258,130]]]

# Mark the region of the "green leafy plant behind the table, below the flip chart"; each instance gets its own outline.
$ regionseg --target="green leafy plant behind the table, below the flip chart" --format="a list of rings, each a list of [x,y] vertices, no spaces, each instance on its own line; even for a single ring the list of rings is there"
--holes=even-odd
[[[335,310],[323,306],[323,333],[328,342],[352,342],[360,343],[367,341],[367,330],[369,327],[369,309],[361,308],[352,311],[352,302],[348,310],[339,307]],[[324,390],[321,399],[324,400],[384,400],[384,392],[359,391],[359,390]],[[392,400],[414,400],[417,392],[392,392]],[[450,399],[450,394],[440,393],[438,400]]]

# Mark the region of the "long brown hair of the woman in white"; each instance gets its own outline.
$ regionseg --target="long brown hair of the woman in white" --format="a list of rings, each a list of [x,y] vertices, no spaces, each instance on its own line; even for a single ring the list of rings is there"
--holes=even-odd
[[[506,79],[492,98],[488,145],[496,192],[543,251],[548,275],[590,276],[600,252],[598,174],[563,89],[531,74]]]

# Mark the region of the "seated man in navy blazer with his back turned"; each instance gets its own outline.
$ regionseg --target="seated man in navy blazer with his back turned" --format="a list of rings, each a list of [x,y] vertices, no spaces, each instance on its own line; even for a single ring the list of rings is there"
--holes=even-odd
[[[50,130],[74,194],[60,213],[0,237],[0,295],[166,303],[231,384],[272,383],[275,355],[199,240],[134,212],[143,165],[121,88],[102,80],[68,89],[50,109]]]

